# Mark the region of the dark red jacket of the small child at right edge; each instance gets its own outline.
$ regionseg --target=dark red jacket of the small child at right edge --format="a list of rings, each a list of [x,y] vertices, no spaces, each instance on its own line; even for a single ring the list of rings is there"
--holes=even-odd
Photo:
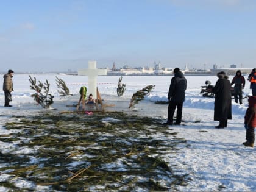
[[[248,108],[244,116],[244,124],[249,127],[256,127],[256,96],[251,96],[248,99]]]

